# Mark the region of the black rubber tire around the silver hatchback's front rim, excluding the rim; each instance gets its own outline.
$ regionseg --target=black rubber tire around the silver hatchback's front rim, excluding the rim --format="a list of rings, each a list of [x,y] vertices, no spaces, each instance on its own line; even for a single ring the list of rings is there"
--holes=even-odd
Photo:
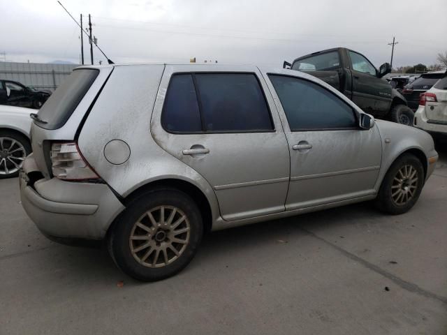
[[[418,174],[418,188],[416,189],[415,195],[409,202],[402,206],[399,206],[395,204],[391,197],[391,186],[393,185],[393,179],[403,165],[412,165],[413,168],[416,169],[416,173]],[[425,183],[424,177],[425,173],[423,165],[416,156],[413,156],[412,154],[404,154],[397,158],[397,160],[393,163],[393,165],[390,166],[388,172],[383,178],[379,195],[376,200],[378,202],[377,204],[379,205],[379,208],[389,214],[403,214],[406,213],[406,211],[409,211],[409,209],[411,209],[411,207],[416,204],[419,195],[422,192],[422,188]]]

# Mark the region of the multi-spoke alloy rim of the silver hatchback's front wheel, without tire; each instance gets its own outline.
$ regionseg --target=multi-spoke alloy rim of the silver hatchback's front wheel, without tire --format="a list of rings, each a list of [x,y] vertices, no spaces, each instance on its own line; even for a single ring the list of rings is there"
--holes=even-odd
[[[397,171],[391,186],[391,198],[399,206],[405,205],[416,195],[419,185],[418,172],[413,165],[404,165]]]

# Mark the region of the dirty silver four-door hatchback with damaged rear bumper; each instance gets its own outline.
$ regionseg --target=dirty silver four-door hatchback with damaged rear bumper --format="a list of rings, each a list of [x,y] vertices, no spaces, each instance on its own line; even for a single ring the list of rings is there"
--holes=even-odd
[[[256,66],[77,68],[31,133],[20,189],[38,229],[106,239],[142,281],[186,267],[210,230],[365,200],[404,213],[437,161],[424,131]]]

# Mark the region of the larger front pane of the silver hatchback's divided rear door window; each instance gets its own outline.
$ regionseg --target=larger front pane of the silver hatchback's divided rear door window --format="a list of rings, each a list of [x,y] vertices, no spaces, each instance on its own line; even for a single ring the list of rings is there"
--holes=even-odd
[[[251,73],[197,73],[206,131],[273,129],[263,91]]]

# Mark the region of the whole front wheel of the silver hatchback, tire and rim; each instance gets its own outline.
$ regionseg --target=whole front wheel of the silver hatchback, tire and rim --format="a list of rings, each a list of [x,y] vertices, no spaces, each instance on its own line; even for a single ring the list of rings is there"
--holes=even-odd
[[[424,168],[412,154],[404,154],[390,166],[383,178],[376,207],[388,214],[403,214],[418,201],[424,186]]]

